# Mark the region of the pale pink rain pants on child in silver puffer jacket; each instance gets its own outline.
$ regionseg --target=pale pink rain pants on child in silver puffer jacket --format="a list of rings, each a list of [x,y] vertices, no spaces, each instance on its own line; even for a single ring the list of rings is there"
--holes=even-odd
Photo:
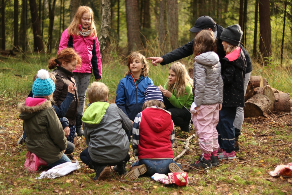
[[[219,148],[216,126],[219,121],[219,105],[201,105],[199,114],[192,114],[202,153],[210,154]]]

